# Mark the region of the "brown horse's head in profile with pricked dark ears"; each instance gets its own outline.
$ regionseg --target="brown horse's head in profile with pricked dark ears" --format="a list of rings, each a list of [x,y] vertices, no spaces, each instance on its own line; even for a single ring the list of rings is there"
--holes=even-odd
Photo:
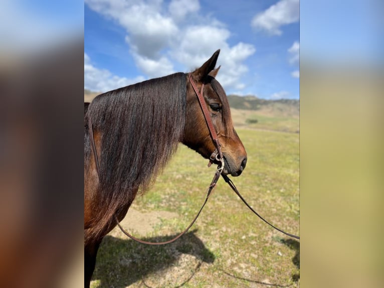
[[[246,166],[247,153],[233,127],[227,95],[220,83],[215,79],[220,69],[220,67],[215,69],[219,53],[220,50],[216,51],[200,68],[191,72],[191,77],[199,91],[204,83],[204,100],[219,137],[224,156],[225,166],[223,173],[225,175],[239,176]],[[182,143],[207,159],[216,149],[198,97],[189,81],[187,81],[185,125]],[[219,164],[219,162],[215,163]]]

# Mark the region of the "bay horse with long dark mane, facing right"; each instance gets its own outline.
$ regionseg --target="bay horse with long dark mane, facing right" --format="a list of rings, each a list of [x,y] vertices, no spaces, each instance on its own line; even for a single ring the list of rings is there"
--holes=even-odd
[[[233,127],[226,93],[215,78],[220,69],[215,69],[219,53],[191,73],[146,80],[84,103],[86,287],[99,245],[117,224],[115,216],[119,221],[125,217],[136,195],[154,182],[178,143],[206,159],[215,151],[191,81],[198,89],[204,84],[204,100],[224,157],[222,174],[239,176],[243,172],[247,153]],[[220,164],[217,162],[214,160]]]

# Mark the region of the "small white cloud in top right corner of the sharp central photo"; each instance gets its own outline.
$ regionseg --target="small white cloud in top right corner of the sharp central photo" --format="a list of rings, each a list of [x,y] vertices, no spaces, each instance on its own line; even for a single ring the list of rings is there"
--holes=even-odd
[[[257,14],[252,19],[251,25],[271,35],[281,35],[280,27],[298,22],[299,17],[299,0],[281,0]]]

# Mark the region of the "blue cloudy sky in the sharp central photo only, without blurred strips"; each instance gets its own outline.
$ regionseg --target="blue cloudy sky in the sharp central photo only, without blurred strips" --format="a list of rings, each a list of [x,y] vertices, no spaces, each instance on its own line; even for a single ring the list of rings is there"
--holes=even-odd
[[[84,88],[189,72],[221,49],[227,94],[299,98],[299,2],[85,0]]]

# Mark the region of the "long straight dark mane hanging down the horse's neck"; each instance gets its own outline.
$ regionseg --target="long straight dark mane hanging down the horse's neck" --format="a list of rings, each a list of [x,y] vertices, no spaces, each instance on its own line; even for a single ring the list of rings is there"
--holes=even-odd
[[[96,234],[123,205],[145,191],[177,149],[185,122],[186,77],[175,73],[98,95],[85,115],[84,163],[91,149],[88,118],[100,135]]]

